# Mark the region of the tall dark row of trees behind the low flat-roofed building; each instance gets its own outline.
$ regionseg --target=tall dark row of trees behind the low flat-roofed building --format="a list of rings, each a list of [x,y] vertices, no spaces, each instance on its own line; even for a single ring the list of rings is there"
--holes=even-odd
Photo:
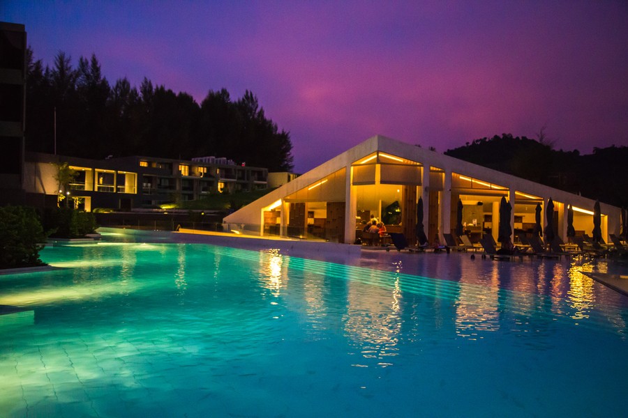
[[[232,100],[224,88],[197,104],[187,93],[128,79],[111,85],[95,55],[59,52],[52,68],[28,51],[27,150],[101,159],[108,155],[184,158],[214,155],[270,171],[292,170],[290,134],[264,116],[257,97],[246,91]]]

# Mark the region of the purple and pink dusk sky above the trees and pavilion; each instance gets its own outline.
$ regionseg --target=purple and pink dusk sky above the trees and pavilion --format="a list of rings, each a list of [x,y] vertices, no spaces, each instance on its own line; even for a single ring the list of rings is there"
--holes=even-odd
[[[304,172],[374,134],[442,152],[494,134],[628,145],[626,1],[12,1],[37,59],[96,54],[201,102],[245,89]]]

